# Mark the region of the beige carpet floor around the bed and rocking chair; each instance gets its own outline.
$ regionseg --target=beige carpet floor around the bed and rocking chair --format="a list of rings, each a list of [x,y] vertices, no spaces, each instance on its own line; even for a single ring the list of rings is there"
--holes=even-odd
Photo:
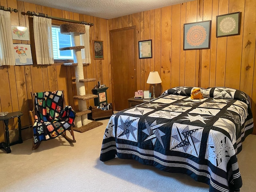
[[[208,192],[207,184],[184,174],[162,172],[135,160],[115,158],[101,162],[100,149],[108,119],[84,133],[74,132],[76,143],[62,136],[31,150],[32,139],[0,150],[0,192]],[[256,136],[249,135],[238,154],[243,186],[256,189]]]

